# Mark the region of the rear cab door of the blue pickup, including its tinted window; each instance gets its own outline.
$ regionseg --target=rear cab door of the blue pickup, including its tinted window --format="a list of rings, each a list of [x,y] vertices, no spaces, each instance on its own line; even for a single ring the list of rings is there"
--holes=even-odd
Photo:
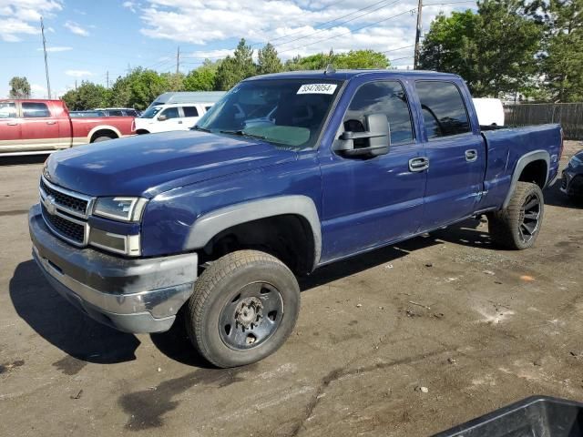
[[[428,165],[424,229],[435,229],[475,211],[483,190],[486,145],[478,127],[472,127],[463,94],[454,82],[420,80],[415,88]]]

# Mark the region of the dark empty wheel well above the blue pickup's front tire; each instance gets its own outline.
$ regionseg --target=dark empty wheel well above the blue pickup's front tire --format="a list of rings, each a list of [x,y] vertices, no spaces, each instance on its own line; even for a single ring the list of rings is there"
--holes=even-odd
[[[225,229],[203,248],[200,263],[242,249],[267,252],[281,259],[297,275],[310,273],[313,269],[313,233],[308,220],[301,216],[285,214]]]

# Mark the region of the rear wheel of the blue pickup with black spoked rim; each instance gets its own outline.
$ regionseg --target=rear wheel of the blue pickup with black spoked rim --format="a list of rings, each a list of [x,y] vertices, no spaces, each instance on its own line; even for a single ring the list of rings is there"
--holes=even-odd
[[[506,249],[528,249],[535,244],[545,212],[543,192],[537,184],[518,182],[510,203],[488,214],[494,242]]]

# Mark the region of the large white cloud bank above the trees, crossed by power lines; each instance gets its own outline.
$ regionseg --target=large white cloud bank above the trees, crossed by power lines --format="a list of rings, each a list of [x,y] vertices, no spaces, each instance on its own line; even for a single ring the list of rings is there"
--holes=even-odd
[[[271,41],[283,59],[331,48],[337,53],[372,48],[386,52],[389,58],[412,57],[413,47],[394,49],[414,45],[417,0],[374,3],[367,8],[362,0],[342,4],[334,0],[148,0],[138,12],[143,23],[140,32],[145,36],[223,46],[197,50],[187,56],[191,58],[228,55],[232,40],[240,37],[253,48]],[[447,14],[466,7],[475,5],[424,7],[424,30],[440,11]],[[230,43],[224,43],[226,40]],[[399,60],[402,65],[411,61]]]

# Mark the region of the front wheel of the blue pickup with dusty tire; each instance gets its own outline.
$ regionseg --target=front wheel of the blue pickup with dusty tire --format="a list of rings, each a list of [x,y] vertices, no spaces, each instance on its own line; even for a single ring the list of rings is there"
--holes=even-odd
[[[299,310],[300,287],[292,271],[267,253],[240,250],[200,275],[185,322],[200,355],[228,368],[277,351],[292,333]],[[249,318],[255,321],[249,324]]]

